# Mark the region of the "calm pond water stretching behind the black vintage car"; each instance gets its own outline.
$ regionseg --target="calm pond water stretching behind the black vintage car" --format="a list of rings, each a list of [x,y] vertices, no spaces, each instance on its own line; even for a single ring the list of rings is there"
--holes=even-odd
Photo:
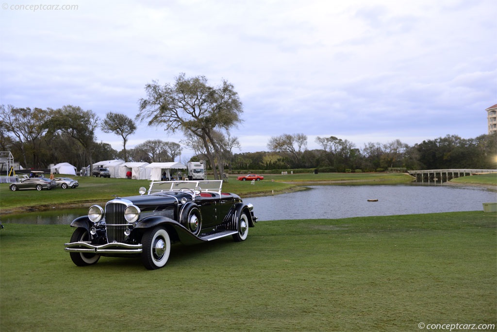
[[[374,185],[307,186],[275,196],[244,199],[252,203],[259,221],[337,219],[457,211],[483,211],[483,203],[497,202],[494,191],[476,187]],[[378,200],[368,202],[368,200]],[[1,217],[2,223],[70,224],[87,209],[51,210]]]

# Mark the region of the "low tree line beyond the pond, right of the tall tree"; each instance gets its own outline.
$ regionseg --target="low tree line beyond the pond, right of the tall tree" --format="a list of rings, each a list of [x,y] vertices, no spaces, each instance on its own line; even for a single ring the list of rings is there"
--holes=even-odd
[[[496,169],[497,135],[461,138],[446,135],[410,146],[395,139],[368,142],[357,148],[353,142],[335,136],[316,138],[319,149],[307,149],[307,135],[283,134],[271,137],[269,152],[233,155],[232,169],[309,169],[323,172],[376,172],[388,169]]]

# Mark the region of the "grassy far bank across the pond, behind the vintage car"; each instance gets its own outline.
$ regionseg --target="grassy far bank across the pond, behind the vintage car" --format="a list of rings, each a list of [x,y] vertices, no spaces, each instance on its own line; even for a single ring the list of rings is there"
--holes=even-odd
[[[120,197],[138,195],[138,188],[149,187],[148,180],[130,180],[115,178],[76,177],[80,186],[76,189],[52,189],[38,192],[36,190],[22,190],[11,192],[9,184],[0,184],[0,214],[22,211],[51,209],[60,206],[90,206],[96,203],[105,203],[113,196]],[[235,177],[223,184],[223,190],[233,192],[243,197],[270,195],[301,190],[298,185],[306,183],[401,183],[412,181],[412,177],[405,174],[294,174],[268,175],[263,181],[251,185],[248,181],[237,181]]]

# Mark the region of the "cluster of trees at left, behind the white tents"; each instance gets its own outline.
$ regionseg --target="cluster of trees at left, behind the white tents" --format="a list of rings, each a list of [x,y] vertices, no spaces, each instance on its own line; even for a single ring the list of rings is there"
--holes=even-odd
[[[98,142],[98,127],[121,136],[123,149],[117,151],[108,143]],[[92,111],[71,105],[48,110],[0,105],[0,149],[10,151],[24,168],[48,168],[59,162],[83,168],[93,161],[111,159],[163,162],[180,155],[180,144],[160,139],[127,149],[128,136],[135,131],[134,120],[114,112],[100,121]]]

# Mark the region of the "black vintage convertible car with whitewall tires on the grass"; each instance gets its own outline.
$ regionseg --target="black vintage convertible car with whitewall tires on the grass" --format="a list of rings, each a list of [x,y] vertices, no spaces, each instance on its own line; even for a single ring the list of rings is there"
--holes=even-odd
[[[87,216],[71,223],[76,229],[65,250],[78,266],[95,264],[100,256],[139,256],[153,270],[166,264],[174,242],[195,244],[230,235],[243,241],[257,221],[253,206],[223,193],[222,184],[153,181],[148,191],[140,188],[141,196],[117,197],[105,210],[93,205]]]

